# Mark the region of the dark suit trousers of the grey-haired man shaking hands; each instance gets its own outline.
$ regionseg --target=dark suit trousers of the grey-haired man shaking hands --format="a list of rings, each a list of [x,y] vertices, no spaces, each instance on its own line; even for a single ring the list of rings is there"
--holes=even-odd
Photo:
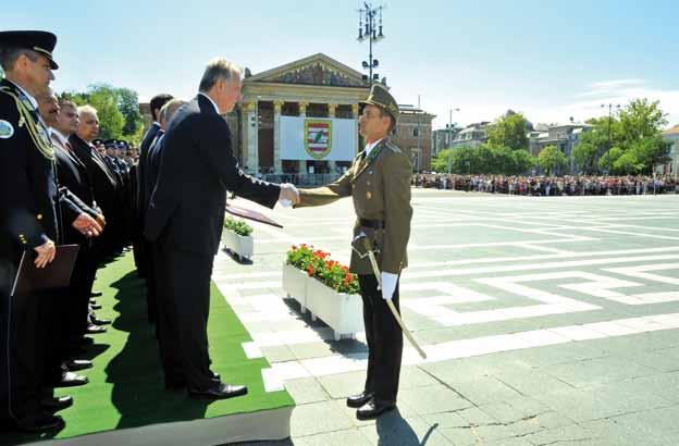
[[[163,277],[157,282],[157,293],[162,296],[158,302],[158,342],[165,382],[185,382],[193,391],[210,388],[214,385],[208,350],[213,257],[178,250],[162,237],[155,253],[157,277]]]

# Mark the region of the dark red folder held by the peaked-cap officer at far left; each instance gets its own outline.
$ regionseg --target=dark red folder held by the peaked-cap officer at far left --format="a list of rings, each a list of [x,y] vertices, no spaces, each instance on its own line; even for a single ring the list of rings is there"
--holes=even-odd
[[[14,278],[12,296],[69,286],[79,249],[77,245],[58,246],[54,260],[45,268],[36,268],[34,250],[24,251]]]

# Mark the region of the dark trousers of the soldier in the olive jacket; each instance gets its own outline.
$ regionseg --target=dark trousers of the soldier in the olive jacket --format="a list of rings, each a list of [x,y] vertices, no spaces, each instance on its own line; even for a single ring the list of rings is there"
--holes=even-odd
[[[359,275],[360,294],[363,299],[363,324],[368,340],[367,392],[374,393],[374,399],[387,404],[396,402],[400,359],[403,356],[403,333],[394,319],[382,290],[378,289],[374,275]],[[398,284],[392,299],[398,305]]]

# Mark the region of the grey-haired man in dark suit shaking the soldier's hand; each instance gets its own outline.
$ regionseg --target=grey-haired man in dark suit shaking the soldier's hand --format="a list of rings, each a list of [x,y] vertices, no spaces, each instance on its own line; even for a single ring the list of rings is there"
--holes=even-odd
[[[246,175],[231,148],[231,132],[221,114],[240,99],[240,70],[224,59],[210,62],[198,96],[181,108],[168,127],[156,189],[146,216],[145,236],[157,241],[168,296],[159,336],[175,355],[165,368],[165,386],[186,386],[189,395],[230,398],[247,387],[215,379],[210,370],[208,314],[210,277],[219,249],[226,190],[273,208],[286,198],[287,185],[273,185]],[[164,364],[163,364],[164,366]]]

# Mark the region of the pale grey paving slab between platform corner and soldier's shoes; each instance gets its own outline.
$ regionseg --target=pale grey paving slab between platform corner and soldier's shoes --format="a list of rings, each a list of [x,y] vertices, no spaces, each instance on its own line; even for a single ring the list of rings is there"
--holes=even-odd
[[[311,402],[300,405],[293,410],[291,435],[298,436],[342,431],[354,426],[337,401]]]

